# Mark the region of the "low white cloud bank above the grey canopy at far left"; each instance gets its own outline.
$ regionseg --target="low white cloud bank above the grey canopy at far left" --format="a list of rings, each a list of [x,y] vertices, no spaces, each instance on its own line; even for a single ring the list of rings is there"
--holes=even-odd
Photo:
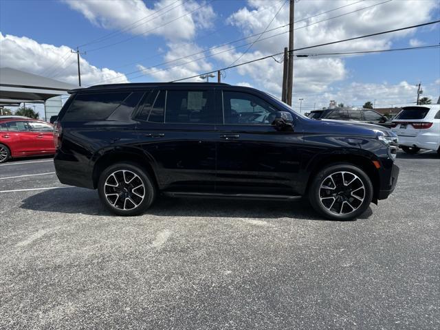
[[[37,43],[25,36],[12,36],[0,32],[0,67],[12,67],[32,74],[52,76],[55,79],[78,85],[76,55],[70,54],[70,47]],[[127,83],[124,74],[111,69],[98,68],[81,58],[82,85],[94,85],[115,76],[120,83]]]

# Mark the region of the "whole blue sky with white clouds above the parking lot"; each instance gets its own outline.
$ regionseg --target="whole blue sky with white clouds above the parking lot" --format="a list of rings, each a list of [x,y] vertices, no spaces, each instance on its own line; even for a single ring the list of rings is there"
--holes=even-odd
[[[281,10],[275,16],[279,8]],[[321,14],[329,10],[332,11]],[[321,15],[316,16],[318,14]],[[332,18],[340,14],[346,15]],[[434,21],[439,17],[437,0],[300,0],[296,3],[296,21],[307,20],[296,23],[295,43],[296,47],[304,47]],[[287,45],[287,34],[273,35],[285,32],[287,28],[263,34],[261,39],[273,37],[256,42],[245,54],[247,45],[235,50],[228,47],[250,43],[256,37],[209,49],[259,34],[267,26],[277,28],[287,20],[288,3],[284,0],[1,0],[0,66],[76,83],[76,58],[69,54],[69,48],[75,49],[113,33],[104,42],[80,48],[86,52],[81,63],[85,85],[168,81],[228,66],[240,56],[236,63],[282,52]],[[135,21],[140,23],[133,28],[130,24]],[[126,28],[127,25],[132,29]],[[437,24],[325,49],[320,47],[307,51],[307,54],[439,43]],[[107,45],[109,47],[96,50]],[[192,55],[202,51],[207,52]],[[214,54],[217,52],[221,53]],[[210,55],[208,58],[187,63],[207,54]],[[188,58],[179,60],[183,56]],[[281,60],[281,56],[276,59]],[[148,69],[174,60],[172,64],[178,67],[168,65]],[[130,74],[135,71],[138,72]],[[223,74],[226,83],[250,85],[278,96],[281,72],[282,65],[269,59],[229,69]],[[416,96],[415,85],[419,82],[426,96],[437,100],[440,94],[438,48],[362,56],[311,57],[295,61],[294,107],[298,105],[298,98],[305,99],[305,110],[326,106],[329,100],[352,105],[377,100],[377,106],[391,107],[391,104],[412,102]]]

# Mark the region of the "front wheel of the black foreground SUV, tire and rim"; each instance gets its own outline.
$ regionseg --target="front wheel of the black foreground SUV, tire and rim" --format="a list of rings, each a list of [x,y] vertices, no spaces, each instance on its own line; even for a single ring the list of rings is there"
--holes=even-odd
[[[316,174],[308,195],[311,206],[327,219],[350,220],[369,208],[373,184],[360,168],[351,164],[333,164]]]

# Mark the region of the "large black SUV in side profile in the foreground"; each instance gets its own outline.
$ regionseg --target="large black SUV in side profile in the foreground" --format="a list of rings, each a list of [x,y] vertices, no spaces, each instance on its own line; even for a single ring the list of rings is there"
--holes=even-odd
[[[294,200],[351,219],[393,192],[397,137],[311,120],[273,96],[218,83],[100,85],[70,91],[56,122],[63,184],[98,189],[115,214],[159,194]]]

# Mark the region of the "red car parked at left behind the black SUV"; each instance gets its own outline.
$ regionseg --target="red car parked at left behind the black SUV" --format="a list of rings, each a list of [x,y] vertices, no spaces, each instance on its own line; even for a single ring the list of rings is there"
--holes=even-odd
[[[0,163],[10,157],[54,155],[54,126],[28,118],[0,119]]]

